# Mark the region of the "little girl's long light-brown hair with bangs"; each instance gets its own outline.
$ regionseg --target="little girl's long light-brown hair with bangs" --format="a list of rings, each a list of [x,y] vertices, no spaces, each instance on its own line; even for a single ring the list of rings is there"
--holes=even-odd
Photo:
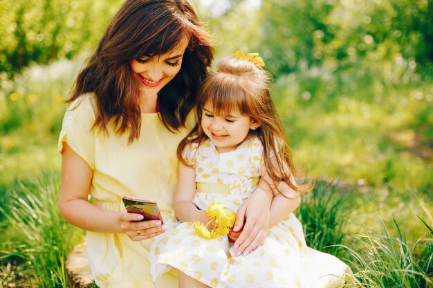
[[[249,131],[246,139],[256,136],[263,144],[264,165],[273,180],[273,183],[268,183],[270,187],[274,189],[277,182],[284,181],[295,191],[307,191],[306,186],[297,186],[293,182],[295,167],[291,148],[269,88],[270,76],[252,62],[237,58],[221,61],[201,84],[197,97],[199,122],[179,144],[179,161],[188,165],[182,157],[185,146],[191,142],[201,144],[208,138],[200,125],[205,104],[212,107],[216,115],[230,115],[232,111],[238,111],[260,124],[256,130]],[[273,155],[276,156],[275,160],[271,160]]]

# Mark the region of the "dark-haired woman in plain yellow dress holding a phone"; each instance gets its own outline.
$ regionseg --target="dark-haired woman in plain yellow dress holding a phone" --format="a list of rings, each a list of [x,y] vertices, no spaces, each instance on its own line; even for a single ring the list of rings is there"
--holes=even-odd
[[[59,136],[59,210],[88,231],[91,271],[101,288],[177,287],[176,275],[156,283],[149,275],[151,238],[165,227],[127,213],[121,199],[154,199],[163,218],[171,213],[176,148],[196,122],[196,88],[212,57],[209,36],[186,0],[127,0],[77,77]],[[264,240],[271,200],[257,190],[239,209],[241,251]]]

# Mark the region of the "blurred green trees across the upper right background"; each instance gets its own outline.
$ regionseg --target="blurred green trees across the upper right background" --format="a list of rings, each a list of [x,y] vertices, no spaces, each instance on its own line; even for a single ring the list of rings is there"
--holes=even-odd
[[[432,0],[268,0],[261,13],[257,48],[276,76],[325,62],[361,70],[433,63]]]

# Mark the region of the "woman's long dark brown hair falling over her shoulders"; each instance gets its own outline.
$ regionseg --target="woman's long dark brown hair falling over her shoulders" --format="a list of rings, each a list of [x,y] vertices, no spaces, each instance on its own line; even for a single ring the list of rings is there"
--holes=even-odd
[[[181,70],[158,93],[157,108],[169,131],[176,131],[196,102],[196,90],[208,75],[214,48],[186,0],[127,0],[109,23],[88,64],[77,77],[68,102],[93,93],[98,106],[93,128],[140,136],[139,90],[130,62],[171,52],[187,37]]]

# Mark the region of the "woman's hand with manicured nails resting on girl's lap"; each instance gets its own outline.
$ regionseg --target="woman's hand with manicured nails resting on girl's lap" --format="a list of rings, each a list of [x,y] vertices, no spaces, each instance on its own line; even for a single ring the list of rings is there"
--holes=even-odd
[[[233,227],[234,232],[240,232],[239,237],[234,241],[234,253],[237,256],[241,254],[246,256],[263,244],[268,233],[269,208],[272,199],[272,193],[256,189],[251,197],[239,207]],[[235,238],[236,236],[232,233],[230,237]]]

